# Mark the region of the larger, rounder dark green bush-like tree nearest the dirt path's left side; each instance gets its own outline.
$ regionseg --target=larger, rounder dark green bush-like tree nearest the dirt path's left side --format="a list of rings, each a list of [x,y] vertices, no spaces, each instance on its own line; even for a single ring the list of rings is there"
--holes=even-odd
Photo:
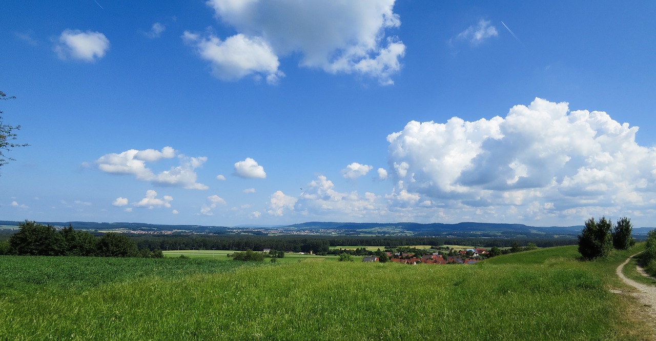
[[[602,216],[598,222],[594,217],[586,220],[585,227],[579,235],[579,252],[583,258],[593,260],[608,256],[613,249],[610,231],[611,222]]]

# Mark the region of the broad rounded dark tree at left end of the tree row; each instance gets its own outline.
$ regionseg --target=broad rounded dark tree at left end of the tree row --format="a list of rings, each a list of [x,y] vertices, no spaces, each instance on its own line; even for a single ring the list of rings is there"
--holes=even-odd
[[[9,238],[9,253],[22,256],[58,256],[62,237],[54,227],[25,220],[18,224],[20,231]]]

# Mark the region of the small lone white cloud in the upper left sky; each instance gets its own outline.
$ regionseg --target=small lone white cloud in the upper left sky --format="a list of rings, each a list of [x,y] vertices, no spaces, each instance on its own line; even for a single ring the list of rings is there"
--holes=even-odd
[[[54,46],[62,60],[77,59],[95,62],[105,56],[110,41],[104,34],[95,31],[64,30]]]

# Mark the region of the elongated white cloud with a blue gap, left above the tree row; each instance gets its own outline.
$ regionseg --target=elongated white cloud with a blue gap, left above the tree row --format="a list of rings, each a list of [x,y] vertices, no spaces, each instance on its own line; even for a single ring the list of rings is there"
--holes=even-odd
[[[187,157],[178,155],[180,165],[171,167],[155,174],[146,167],[146,162],[157,162],[161,159],[171,159],[176,151],[171,147],[157,150],[127,150],[121,153],[110,153],[96,160],[98,169],[110,174],[129,174],[136,180],[149,181],[159,186],[176,186],[190,190],[207,190],[207,186],[196,182],[195,169],[201,167],[207,157]]]

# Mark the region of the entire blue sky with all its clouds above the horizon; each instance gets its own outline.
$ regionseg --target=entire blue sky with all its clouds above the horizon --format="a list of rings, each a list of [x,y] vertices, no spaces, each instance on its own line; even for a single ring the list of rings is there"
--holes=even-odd
[[[0,219],[653,226],[655,14],[9,1]]]

